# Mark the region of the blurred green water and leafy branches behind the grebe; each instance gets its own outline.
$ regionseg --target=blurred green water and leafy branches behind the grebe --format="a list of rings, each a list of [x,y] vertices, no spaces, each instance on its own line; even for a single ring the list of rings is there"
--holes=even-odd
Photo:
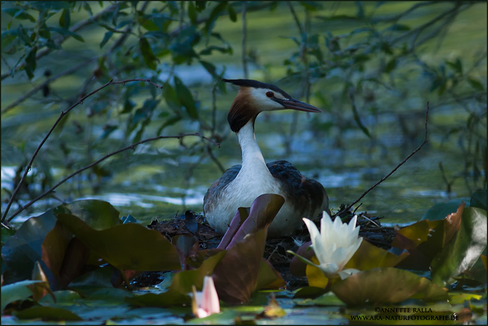
[[[336,210],[422,142],[427,101],[427,147],[361,209],[406,223],[486,188],[486,2],[2,2],[1,18],[2,212],[59,113],[110,79],[149,78],[163,91],[113,85],[75,108],[18,203],[145,138],[199,132],[221,148],[196,138],[141,145],[64,183],[24,218],[81,198],[144,223],[201,211],[208,186],[240,162],[226,121],[235,90],[219,78],[246,74],[324,110],[263,114],[256,135],[267,161],[289,160],[319,180]]]

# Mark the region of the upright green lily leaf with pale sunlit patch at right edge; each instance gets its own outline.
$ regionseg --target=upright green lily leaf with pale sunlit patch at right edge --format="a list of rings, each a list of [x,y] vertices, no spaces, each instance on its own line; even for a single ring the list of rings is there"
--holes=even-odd
[[[465,208],[459,231],[432,260],[432,280],[441,286],[469,271],[486,248],[486,210]]]

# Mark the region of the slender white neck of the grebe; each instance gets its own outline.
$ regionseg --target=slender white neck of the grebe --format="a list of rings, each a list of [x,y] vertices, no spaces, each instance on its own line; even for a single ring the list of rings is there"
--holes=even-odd
[[[265,170],[270,173],[254,136],[254,121],[246,123],[236,135],[242,150],[242,170]]]

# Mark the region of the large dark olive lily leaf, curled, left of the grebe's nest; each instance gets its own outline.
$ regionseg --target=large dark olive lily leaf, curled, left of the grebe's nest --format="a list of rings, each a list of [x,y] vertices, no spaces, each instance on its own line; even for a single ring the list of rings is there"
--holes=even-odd
[[[88,248],[119,270],[163,271],[180,268],[178,252],[156,230],[127,223],[97,231],[71,214],[57,219]]]

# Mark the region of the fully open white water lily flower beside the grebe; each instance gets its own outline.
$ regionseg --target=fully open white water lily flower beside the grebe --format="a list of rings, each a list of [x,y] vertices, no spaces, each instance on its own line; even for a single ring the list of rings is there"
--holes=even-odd
[[[339,275],[342,279],[359,272],[356,269],[344,269],[354,253],[358,250],[363,238],[359,236],[359,226],[356,227],[358,216],[354,215],[349,224],[342,223],[337,217],[334,222],[327,212],[323,212],[320,220],[320,232],[314,222],[303,219],[310,233],[315,255],[320,265],[318,267],[328,278]],[[310,262],[311,263],[311,262]]]

